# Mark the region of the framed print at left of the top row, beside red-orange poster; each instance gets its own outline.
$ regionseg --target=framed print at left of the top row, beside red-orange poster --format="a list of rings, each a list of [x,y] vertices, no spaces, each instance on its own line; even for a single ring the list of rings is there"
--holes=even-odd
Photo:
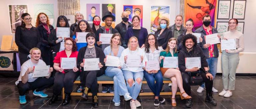
[[[231,0],[219,0],[218,19],[229,19]]]

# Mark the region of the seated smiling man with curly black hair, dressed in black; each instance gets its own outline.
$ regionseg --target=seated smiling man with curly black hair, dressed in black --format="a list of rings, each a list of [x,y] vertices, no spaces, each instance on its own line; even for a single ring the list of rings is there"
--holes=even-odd
[[[197,38],[192,34],[186,34],[182,41],[182,49],[178,54],[178,62],[179,69],[182,76],[183,88],[185,92],[191,96],[191,87],[190,87],[190,78],[191,75],[200,74],[203,78],[203,82],[205,82],[206,87],[206,98],[205,102],[209,102],[212,105],[217,105],[216,101],[213,99],[212,94],[212,86],[213,86],[213,76],[209,72],[208,64],[206,61],[206,57],[200,46],[197,45]],[[185,58],[190,57],[200,57],[201,58],[201,68],[186,68]],[[192,107],[193,101],[191,99],[187,99],[185,106]]]

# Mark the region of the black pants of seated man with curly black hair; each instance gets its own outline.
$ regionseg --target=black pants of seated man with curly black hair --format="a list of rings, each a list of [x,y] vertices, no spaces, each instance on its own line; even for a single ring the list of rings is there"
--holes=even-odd
[[[210,81],[210,79],[207,79],[203,71],[200,71],[200,72],[201,72],[200,75],[203,78],[203,82],[205,82],[206,92],[212,92],[213,81]],[[191,96],[191,87],[190,87],[191,75],[187,72],[182,72],[181,77],[182,77],[183,88],[185,92]]]

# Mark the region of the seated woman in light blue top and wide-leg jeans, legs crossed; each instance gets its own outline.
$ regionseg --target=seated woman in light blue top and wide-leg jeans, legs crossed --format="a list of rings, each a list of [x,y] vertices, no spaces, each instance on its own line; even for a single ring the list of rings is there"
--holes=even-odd
[[[121,45],[121,35],[119,33],[114,33],[111,37],[110,46],[106,47],[104,50],[104,54],[120,57],[122,51],[124,50],[124,47]],[[108,59],[108,57],[106,57]],[[106,64],[107,59],[104,59],[104,63]],[[120,63],[117,63],[120,65]],[[108,66],[105,71],[106,76],[113,77],[114,79],[114,99],[113,102],[115,102],[115,106],[120,105],[120,95],[124,96],[124,99],[131,100],[132,97],[130,96],[130,93],[127,90],[123,72],[121,70],[121,65],[119,67],[111,67]]]

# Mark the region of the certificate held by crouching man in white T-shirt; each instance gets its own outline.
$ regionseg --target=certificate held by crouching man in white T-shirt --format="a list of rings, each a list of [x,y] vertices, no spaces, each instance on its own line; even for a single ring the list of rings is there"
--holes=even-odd
[[[49,76],[50,66],[34,66],[32,78]]]

